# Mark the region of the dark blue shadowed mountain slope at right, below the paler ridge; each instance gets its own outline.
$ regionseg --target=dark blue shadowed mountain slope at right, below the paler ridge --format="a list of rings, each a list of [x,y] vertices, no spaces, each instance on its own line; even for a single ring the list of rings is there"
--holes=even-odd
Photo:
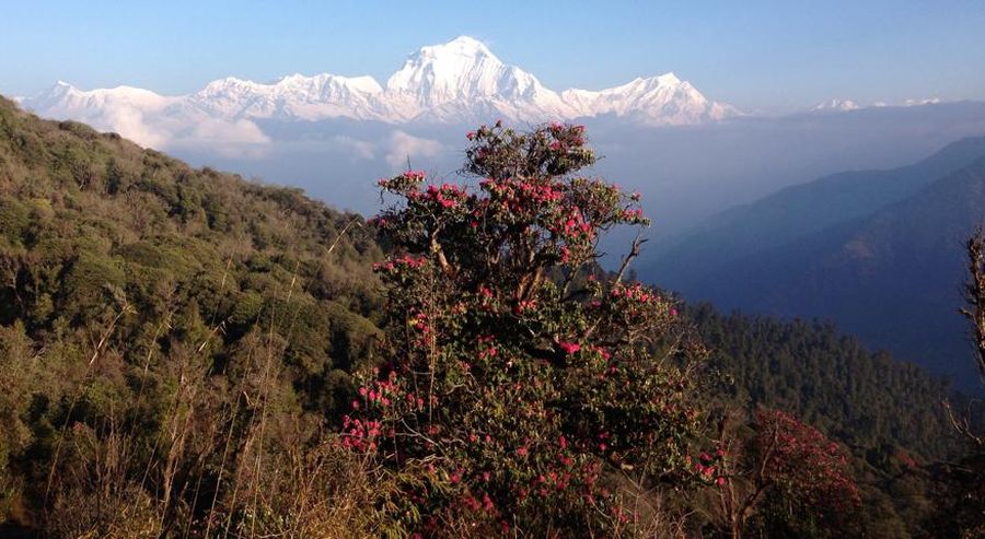
[[[722,308],[823,317],[974,389],[960,283],[985,220],[985,157],[854,221],[750,255],[691,286]]]

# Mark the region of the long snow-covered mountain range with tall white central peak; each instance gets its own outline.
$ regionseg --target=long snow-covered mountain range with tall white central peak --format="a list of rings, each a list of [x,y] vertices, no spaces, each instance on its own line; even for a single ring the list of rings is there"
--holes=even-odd
[[[129,86],[82,91],[59,82],[42,95],[24,99],[23,105],[44,116],[88,120],[125,136],[132,133],[114,118],[178,125],[189,118],[450,124],[614,115],[646,125],[687,125],[738,115],[733,107],[707,99],[673,73],[601,91],[555,92],[466,36],[422,47],[385,86],[371,77],[293,74],[268,84],[225,78],[190,95],[162,96]]]

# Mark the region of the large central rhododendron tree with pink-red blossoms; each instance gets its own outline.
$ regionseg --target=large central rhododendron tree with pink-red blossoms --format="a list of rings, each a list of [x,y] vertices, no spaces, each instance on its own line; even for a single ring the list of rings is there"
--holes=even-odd
[[[578,175],[594,163],[582,127],[467,139],[463,185],[380,181],[397,199],[376,219],[395,253],[376,267],[389,355],[344,443],[401,482],[403,531],[617,532],[606,477],[684,477],[700,421],[674,303],[623,282],[640,242],[617,274],[594,271],[601,233],[648,224],[639,197]]]

